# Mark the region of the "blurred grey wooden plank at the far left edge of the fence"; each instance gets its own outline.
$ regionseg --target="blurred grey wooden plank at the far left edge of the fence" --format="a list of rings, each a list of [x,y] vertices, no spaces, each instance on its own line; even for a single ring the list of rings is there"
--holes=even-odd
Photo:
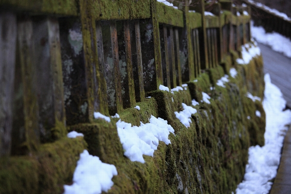
[[[16,55],[16,15],[0,12],[0,157],[11,151],[12,99]]]

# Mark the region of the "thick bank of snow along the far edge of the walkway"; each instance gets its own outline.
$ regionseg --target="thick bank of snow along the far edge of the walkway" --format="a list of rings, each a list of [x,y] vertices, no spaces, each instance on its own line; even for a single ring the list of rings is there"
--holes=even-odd
[[[266,33],[261,26],[253,26],[251,22],[251,33],[259,43],[269,45],[277,52],[281,52],[287,57],[291,57],[291,40],[277,32]]]

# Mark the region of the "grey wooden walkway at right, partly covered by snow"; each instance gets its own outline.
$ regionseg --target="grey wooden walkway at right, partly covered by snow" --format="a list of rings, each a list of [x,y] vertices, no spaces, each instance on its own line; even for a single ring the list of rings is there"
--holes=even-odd
[[[264,60],[264,72],[270,74],[272,83],[281,89],[287,107],[291,108],[291,58],[263,44],[259,44],[259,47]],[[284,140],[280,165],[270,194],[291,194],[291,127]]]

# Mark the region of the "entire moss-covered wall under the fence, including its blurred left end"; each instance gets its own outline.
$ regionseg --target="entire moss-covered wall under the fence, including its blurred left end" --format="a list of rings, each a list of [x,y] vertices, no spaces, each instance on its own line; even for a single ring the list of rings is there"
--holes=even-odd
[[[114,164],[118,175],[109,194],[230,194],[242,181],[248,158],[248,148],[264,145],[265,113],[261,102],[246,97],[247,91],[263,98],[262,58],[248,65],[237,65],[233,51],[224,65],[202,73],[197,81],[188,82],[187,90],[147,93],[145,101],[137,103],[140,111],[129,108],[120,119],[139,126],[151,115],[168,121],[175,129],[169,135],[171,144],[160,142],[154,157],[144,156],[145,163],[131,162],[123,153],[116,125],[96,119],[90,124],[70,126],[84,138],[61,138],[44,144],[32,156],[17,156],[0,161],[0,194],[60,194],[64,184],[72,184],[72,176],[80,153],[87,148],[102,162]],[[215,83],[230,67],[236,67],[237,77],[229,76],[226,88]],[[210,90],[210,87],[215,87]],[[201,102],[202,94],[210,95],[210,104]],[[172,97],[174,102],[172,101]],[[199,102],[192,124],[186,128],[174,112],[181,103]],[[256,116],[258,110],[261,117]],[[250,116],[251,119],[247,119]]]

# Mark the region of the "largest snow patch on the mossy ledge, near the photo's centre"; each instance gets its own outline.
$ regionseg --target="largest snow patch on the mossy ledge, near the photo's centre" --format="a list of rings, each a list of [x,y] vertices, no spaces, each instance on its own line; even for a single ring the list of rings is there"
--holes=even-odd
[[[124,155],[132,162],[145,163],[143,154],[153,157],[159,141],[163,141],[166,145],[171,144],[168,136],[170,132],[174,133],[174,129],[166,120],[153,115],[149,123],[141,122],[140,127],[131,127],[130,123],[121,120],[116,123],[116,126],[120,142],[125,150]]]

